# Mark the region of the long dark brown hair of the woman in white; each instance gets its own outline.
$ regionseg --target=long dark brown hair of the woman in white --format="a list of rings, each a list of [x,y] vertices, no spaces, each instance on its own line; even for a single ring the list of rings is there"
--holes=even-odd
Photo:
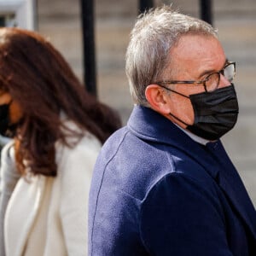
[[[71,147],[67,134],[84,136],[65,127],[62,112],[102,143],[121,125],[118,114],[86,92],[67,61],[36,32],[0,28],[0,86],[23,112],[15,136],[21,173],[26,160],[31,172],[55,176],[55,142]]]

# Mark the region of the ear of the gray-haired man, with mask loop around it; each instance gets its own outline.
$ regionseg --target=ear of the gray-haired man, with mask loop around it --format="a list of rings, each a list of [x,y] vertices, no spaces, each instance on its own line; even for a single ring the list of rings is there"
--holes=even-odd
[[[145,90],[145,96],[151,108],[161,114],[168,114],[171,112],[170,96],[158,84],[149,84]]]

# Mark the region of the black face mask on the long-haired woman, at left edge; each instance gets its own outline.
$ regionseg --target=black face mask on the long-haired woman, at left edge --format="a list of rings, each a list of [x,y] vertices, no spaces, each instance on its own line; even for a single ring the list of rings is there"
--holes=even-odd
[[[0,134],[4,137],[14,137],[16,124],[11,125],[9,120],[9,106],[12,103],[0,105]]]

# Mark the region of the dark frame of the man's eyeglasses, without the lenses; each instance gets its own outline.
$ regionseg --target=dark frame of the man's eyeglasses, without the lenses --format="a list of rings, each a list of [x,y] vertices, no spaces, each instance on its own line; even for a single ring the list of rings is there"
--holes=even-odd
[[[154,84],[159,84],[159,85],[166,85],[166,84],[203,84],[205,91],[210,92],[210,91],[218,89],[218,85],[219,85],[219,81],[220,81],[220,74],[222,74],[224,76],[224,69],[226,67],[229,67],[230,65],[234,65],[234,75],[233,75],[233,78],[231,80],[229,80],[231,82],[236,76],[236,61],[227,61],[224,65],[224,67],[220,71],[208,74],[207,78],[203,79],[201,81],[193,81],[193,80],[190,80],[190,81],[188,81],[188,80],[187,81],[170,80],[170,81],[168,81],[168,80],[166,80],[166,81],[159,81],[159,82],[156,82]],[[207,90],[206,82],[209,80],[209,77],[212,76],[212,74],[215,74],[215,73],[218,73],[218,85],[213,90]]]

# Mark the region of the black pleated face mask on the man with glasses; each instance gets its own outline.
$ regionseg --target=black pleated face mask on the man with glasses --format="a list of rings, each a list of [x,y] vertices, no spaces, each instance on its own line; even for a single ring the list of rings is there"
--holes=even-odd
[[[177,93],[177,91],[172,91]],[[212,92],[202,92],[185,97],[189,98],[192,103],[195,114],[194,124],[188,125],[172,113],[170,114],[187,125],[187,129],[195,135],[214,141],[236,125],[239,108],[234,84]]]

